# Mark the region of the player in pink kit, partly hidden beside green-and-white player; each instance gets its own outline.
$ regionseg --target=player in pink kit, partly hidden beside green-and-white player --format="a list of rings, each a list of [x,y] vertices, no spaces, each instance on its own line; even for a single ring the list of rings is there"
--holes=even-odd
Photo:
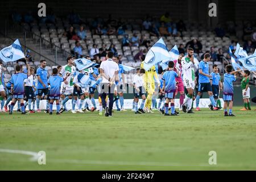
[[[177,70],[178,70],[180,72],[180,75],[182,75],[182,70],[181,70],[182,57],[184,57],[184,53],[180,53],[178,59],[174,60],[174,64],[175,64],[174,71],[177,72]],[[176,89],[175,95],[177,95],[177,92],[180,93],[180,110],[182,110],[182,105],[183,105],[184,98],[185,98],[183,80],[182,80],[181,76],[176,77],[175,80],[177,82],[177,89]]]

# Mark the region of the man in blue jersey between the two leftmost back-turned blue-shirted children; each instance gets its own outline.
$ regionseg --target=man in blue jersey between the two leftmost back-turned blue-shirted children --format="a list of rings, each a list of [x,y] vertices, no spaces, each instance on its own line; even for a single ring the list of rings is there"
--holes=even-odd
[[[46,100],[49,92],[47,85],[46,60],[40,61],[40,68],[36,70],[36,76],[38,77],[38,85],[36,86],[36,111],[41,112],[39,109],[40,100]]]

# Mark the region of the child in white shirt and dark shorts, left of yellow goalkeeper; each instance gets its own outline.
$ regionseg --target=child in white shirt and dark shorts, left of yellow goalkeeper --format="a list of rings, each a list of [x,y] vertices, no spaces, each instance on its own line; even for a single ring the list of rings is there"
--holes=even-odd
[[[143,81],[143,75],[145,74],[144,69],[140,69],[139,73],[134,76],[133,78],[133,84],[134,84],[134,97],[135,97],[135,114],[141,114],[144,113],[143,109],[139,109],[141,112],[138,110],[138,102],[139,102],[139,97],[142,98],[142,103],[145,103],[146,101],[146,89]],[[143,108],[143,107],[142,107]]]

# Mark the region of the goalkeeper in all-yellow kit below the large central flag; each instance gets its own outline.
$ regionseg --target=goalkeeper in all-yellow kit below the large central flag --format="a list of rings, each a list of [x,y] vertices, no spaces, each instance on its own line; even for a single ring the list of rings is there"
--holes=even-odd
[[[144,61],[142,61],[141,63],[141,68],[144,68]],[[158,85],[160,85],[158,74],[156,73],[155,65],[152,65],[152,67],[148,69],[148,71],[145,70],[145,75],[143,79],[144,79],[143,80],[144,83],[146,84],[146,91],[147,91],[145,110],[147,111],[147,113],[154,113],[153,111],[150,110],[150,107],[152,102],[152,96],[155,92],[155,80],[158,80]]]

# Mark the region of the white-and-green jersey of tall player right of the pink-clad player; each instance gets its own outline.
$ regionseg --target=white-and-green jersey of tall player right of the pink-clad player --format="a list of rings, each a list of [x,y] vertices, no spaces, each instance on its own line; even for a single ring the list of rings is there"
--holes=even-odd
[[[197,64],[193,64],[187,56],[182,57],[181,67],[183,72],[183,80],[195,81],[195,69]]]

